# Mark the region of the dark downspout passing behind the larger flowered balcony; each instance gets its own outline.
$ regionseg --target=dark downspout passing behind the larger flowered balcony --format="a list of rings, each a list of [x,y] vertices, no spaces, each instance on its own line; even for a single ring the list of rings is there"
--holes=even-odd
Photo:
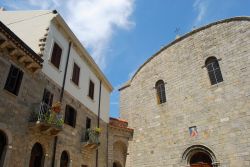
[[[61,92],[60,92],[59,101],[61,103],[62,103],[62,99],[63,99],[63,93],[64,93],[64,87],[65,87],[65,81],[66,81],[66,74],[67,74],[67,69],[68,69],[68,64],[69,64],[70,49],[71,49],[71,41],[69,41],[69,49],[68,49],[68,54],[67,54],[66,66],[65,66],[65,70],[64,70],[64,76],[63,76],[63,84],[62,84],[62,88],[61,88]],[[57,140],[58,140],[58,137],[55,136],[55,138],[54,138],[54,146],[53,146],[53,155],[52,155],[52,164],[51,164],[52,167],[55,166]]]

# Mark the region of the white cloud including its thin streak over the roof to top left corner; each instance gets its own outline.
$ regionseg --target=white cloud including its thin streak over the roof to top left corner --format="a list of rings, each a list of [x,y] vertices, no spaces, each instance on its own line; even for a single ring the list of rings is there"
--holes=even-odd
[[[107,66],[109,43],[117,29],[133,27],[135,0],[4,0],[15,9],[58,9],[97,64]],[[7,3],[8,2],[8,3]]]

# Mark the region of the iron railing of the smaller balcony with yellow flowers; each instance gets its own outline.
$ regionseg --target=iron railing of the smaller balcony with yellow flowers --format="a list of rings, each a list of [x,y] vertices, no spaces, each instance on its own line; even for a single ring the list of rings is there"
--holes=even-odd
[[[96,144],[99,145],[99,136],[100,132],[96,131],[96,129],[85,129],[83,132],[83,142],[87,142],[88,144]]]

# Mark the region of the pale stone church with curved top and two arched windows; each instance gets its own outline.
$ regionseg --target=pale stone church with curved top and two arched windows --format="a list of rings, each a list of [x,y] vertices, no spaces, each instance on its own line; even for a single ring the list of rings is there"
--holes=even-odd
[[[120,89],[127,167],[250,166],[250,18],[208,24],[149,58]]]

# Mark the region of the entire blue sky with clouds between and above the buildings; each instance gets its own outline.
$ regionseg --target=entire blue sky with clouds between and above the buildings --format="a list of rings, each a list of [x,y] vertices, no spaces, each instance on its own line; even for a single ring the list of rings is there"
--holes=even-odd
[[[0,0],[7,10],[56,9],[114,87],[110,116],[119,117],[119,91],[154,53],[194,28],[250,16],[250,0]]]

